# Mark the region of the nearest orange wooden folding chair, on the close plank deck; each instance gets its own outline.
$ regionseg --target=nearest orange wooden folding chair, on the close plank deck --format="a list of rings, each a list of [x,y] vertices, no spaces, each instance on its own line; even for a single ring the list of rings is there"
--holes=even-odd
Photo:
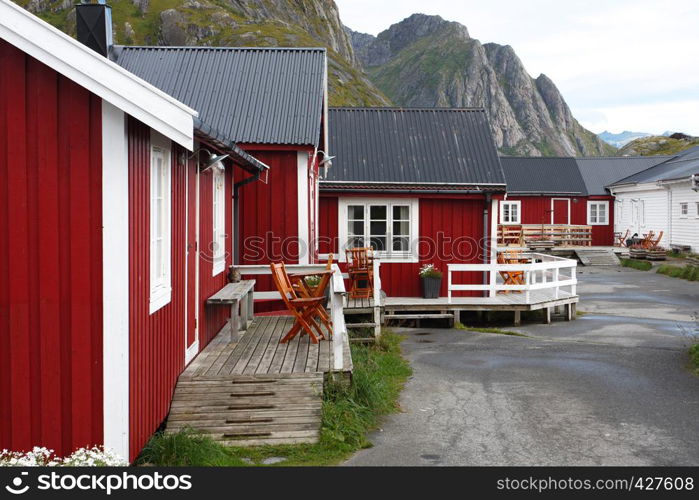
[[[316,323],[314,316],[318,314],[318,307],[321,306],[325,297],[299,297],[296,289],[291,284],[284,263],[272,263],[269,267],[272,270],[274,284],[282,296],[284,304],[295,318],[294,325],[282,338],[281,343],[288,342],[303,330],[303,333],[307,333],[311,338],[311,342],[317,344],[320,339],[325,338],[325,335],[318,323]]]

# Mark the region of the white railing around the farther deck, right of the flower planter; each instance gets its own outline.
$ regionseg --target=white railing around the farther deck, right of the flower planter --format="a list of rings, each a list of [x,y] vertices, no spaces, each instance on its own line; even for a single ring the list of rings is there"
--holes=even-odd
[[[485,291],[489,297],[495,297],[500,291],[519,291],[525,293],[525,301],[530,302],[532,291],[552,290],[553,298],[560,298],[561,291],[570,295],[577,294],[578,280],[576,268],[578,262],[542,253],[521,253],[522,259],[529,262],[521,264],[448,264],[448,300],[451,302],[452,292],[456,291]],[[458,284],[454,283],[452,273],[456,272],[487,272],[488,283]],[[506,284],[501,272],[520,271],[524,276],[524,284]],[[568,290],[562,290],[568,288]]]

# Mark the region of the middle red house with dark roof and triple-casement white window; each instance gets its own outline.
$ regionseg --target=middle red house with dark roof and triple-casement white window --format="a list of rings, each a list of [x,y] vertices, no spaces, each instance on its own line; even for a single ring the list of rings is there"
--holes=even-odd
[[[489,262],[505,178],[482,109],[333,108],[320,182],[321,255],[373,246],[389,296],[419,296],[434,264]],[[479,283],[481,273],[461,282]],[[447,280],[440,294],[447,294]]]

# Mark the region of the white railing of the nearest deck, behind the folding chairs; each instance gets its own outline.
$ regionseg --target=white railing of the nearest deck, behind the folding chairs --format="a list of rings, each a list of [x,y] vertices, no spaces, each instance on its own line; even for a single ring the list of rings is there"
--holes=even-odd
[[[249,265],[249,266],[233,266],[241,276],[261,276],[271,275],[272,270],[267,265]],[[325,264],[286,264],[286,269],[289,274],[293,273],[312,273],[314,271],[324,271]],[[343,308],[345,304],[345,281],[342,277],[342,271],[337,264],[333,264],[333,276],[328,284],[330,289],[330,317],[333,322],[333,370],[342,371],[344,367],[344,351],[343,345],[347,335],[347,327],[345,326],[345,315]],[[255,298],[257,299],[279,299],[281,295],[277,290],[262,290],[255,289]]]

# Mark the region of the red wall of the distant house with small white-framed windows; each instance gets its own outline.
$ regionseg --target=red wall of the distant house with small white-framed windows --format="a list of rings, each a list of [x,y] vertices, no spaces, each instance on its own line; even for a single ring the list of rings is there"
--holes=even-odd
[[[555,198],[570,199],[570,224],[587,225],[588,200],[609,201],[609,224],[592,226],[592,245],[610,246],[614,243],[614,198],[611,196],[556,196]],[[551,224],[550,196],[508,196],[508,201],[522,202],[522,224]],[[574,201],[577,200],[577,203]],[[498,219],[499,220],[499,219]]]

